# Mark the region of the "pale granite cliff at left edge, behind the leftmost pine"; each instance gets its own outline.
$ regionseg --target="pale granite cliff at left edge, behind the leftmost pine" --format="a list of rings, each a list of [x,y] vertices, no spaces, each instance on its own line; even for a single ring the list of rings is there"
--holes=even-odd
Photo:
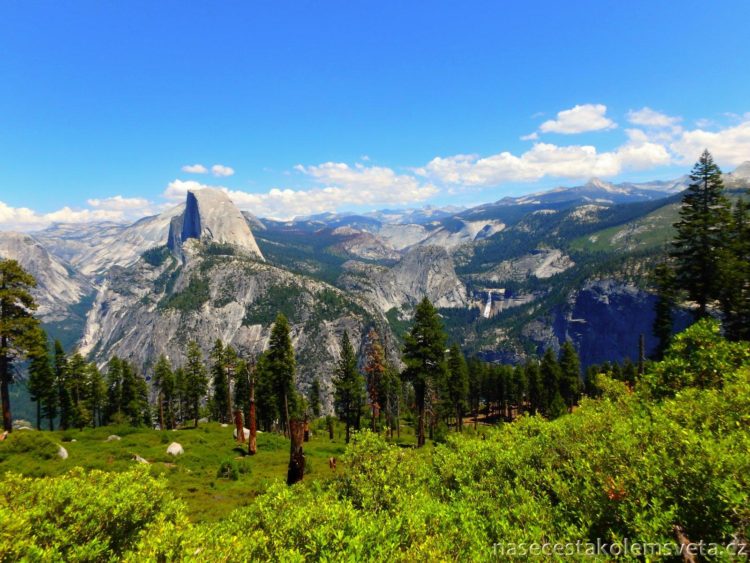
[[[36,278],[32,294],[39,304],[37,316],[45,323],[63,322],[71,307],[94,291],[70,265],[51,255],[36,239],[23,233],[0,232],[0,258],[17,260]]]

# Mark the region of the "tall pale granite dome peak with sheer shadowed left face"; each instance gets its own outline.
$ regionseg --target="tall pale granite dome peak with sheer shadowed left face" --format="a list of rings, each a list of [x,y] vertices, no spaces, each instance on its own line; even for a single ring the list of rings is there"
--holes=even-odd
[[[221,190],[204,188],[187,193],[184,212],[171,221],[168,244],[179,250],[190,239],[228,244],[263,260],[247,220]]]

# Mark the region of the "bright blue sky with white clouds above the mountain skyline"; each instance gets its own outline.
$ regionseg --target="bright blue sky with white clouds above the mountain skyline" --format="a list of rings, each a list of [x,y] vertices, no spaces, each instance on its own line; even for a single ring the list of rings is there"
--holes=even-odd
[[[3,2],[0,228],[202,185],[288,216],[670,178],[703,146],[731,169],[748,21],[746,0]]]

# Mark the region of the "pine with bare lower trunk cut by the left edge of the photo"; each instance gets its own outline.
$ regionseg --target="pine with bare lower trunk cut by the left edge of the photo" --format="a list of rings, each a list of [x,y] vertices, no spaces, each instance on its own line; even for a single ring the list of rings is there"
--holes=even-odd
[[[29,352],[30,336],[39,325],[32,313],[37,305],[30,290],[36,280],[15,260],[0,260],[0,404],[3,428],[13,430],[10,385],[13,364]]]

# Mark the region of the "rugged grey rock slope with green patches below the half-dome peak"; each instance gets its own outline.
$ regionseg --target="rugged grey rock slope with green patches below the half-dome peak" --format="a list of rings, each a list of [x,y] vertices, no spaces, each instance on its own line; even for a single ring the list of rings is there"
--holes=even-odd
[[[298,387],[304,391],[317,378],[330,403],[344,331],[358,346],[376,326],[394,348],[382,316],[367,303],[241,253],[206,255],[204,249],[191,240],[184,264],[169,257],[159,266],[140,260],[114,268],[88,315],[82,351],[99,363],[118,355],[147,374],[161,354],[181,364],[190,340],[206,355],[220,338],[255,357],[266,348],[281,311],[292,326]]]

